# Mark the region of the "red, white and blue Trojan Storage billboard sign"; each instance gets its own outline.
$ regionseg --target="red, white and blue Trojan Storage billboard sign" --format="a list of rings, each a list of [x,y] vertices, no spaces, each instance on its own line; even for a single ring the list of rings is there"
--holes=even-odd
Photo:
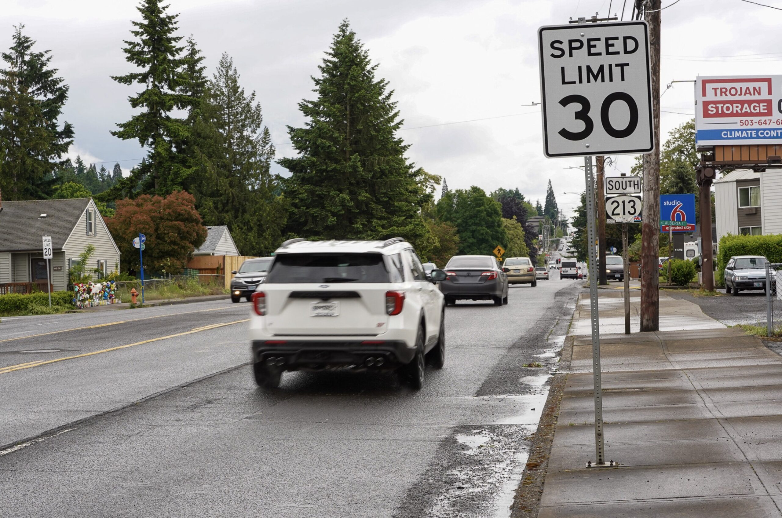
[[[698,77],[695,142],[782,144],[782,76]]]

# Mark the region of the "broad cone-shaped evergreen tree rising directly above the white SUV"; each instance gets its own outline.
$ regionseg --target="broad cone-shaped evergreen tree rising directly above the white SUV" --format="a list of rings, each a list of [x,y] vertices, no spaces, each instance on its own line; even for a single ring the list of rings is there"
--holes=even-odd
[[[421,207],[432,200],[435,177],[404,156],[396,136],[402,121],[388,82],[377,79],[364,45],[344,20],[334,35],[317,99],[299,109],[307,123],[289,127],[294,158],[279,164],[285,181],[289,231],[319,239],[383,239],[403,236],[425,248],[431,239]]]

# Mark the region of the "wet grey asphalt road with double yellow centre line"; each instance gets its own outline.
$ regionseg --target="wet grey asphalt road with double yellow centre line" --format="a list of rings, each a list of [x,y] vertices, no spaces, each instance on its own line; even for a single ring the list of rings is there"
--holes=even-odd
[[[448,308],[446,366],[418,393],[392,374],[256,388],[245,303],[4,320],[0,509],[508,516],[583,283],[552,276]]]

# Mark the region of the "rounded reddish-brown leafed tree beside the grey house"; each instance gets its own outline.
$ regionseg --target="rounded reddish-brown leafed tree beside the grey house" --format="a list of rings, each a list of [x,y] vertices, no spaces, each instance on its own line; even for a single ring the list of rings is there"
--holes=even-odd
[[[123,272],[139,272],[138,248],[133,246],[139,232],[146,236],[144,271],[149,274],[180,273],[206,239],[195,198],[185,191],[117,200],[117,211],[106,224],[120,248]]]

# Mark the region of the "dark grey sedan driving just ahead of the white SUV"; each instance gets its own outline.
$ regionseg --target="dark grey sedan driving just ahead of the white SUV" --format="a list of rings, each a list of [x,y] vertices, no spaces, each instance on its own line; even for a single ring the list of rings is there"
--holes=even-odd
[[[508,304],[508,268],[500,268],[490,255],[457,255],[450,258],[446,279],[439,283],[446,304],[457,300],[493,300]]]

